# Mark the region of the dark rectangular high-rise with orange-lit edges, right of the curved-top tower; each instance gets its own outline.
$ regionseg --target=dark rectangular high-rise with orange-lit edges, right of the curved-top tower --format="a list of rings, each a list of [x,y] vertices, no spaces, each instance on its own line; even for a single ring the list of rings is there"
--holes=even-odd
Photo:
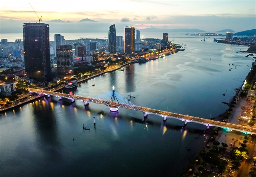
[[[135,28],[124,27],[124,54],[134,54]]]

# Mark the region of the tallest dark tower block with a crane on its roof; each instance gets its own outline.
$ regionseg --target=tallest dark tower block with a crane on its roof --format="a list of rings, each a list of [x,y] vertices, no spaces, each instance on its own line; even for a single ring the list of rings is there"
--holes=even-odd
[[[30,79],[40,83],[50,82],[49,25],[44,23],[23,24],[25,71]]]

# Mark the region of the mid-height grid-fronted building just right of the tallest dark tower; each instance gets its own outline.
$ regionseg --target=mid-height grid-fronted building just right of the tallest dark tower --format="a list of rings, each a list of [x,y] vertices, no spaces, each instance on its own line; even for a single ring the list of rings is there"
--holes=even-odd
[[[73,77],[73,50],[72,46],[56,46],[57,76],[64,78]]]

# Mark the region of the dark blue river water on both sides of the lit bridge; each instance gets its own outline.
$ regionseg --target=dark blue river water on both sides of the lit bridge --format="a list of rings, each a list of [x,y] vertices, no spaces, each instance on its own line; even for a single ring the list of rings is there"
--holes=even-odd
[[[222,102],[242,85],[252,60],[236,53],[247,46],[200,40],[177,39],[187,45],[185,51],[126,66],[68,93],[94,97],[115,86],[124,97],[134,95],[130,101],[135,105],[215,117],[228,108]],[[204,125],[182,128],[182,121],[164,123],[156,115],[148,115],[147,123],[142,119],[142,112],[120,108],[111,113],[94,103],[85,109],[81,101],[69,104],[55,97],[16,107],[0,115],[0,174],[176,177],[204,146]]]

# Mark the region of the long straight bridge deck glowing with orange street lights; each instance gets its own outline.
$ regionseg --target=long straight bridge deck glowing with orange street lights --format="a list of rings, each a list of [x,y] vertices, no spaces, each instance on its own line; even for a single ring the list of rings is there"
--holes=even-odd
[[[99,104],[104,104],[104,105],[110,105],[110,106],[117,106],[116,103],[112,101],[106,101],[106,100],[101,100],[101,99],[93,99],[89,97],[82,97],[82,96],[77,96],[77,95],[70,95],[66,93],[59,93],[59,92],[54,92],[54,91],[46,91],[42,89],[31,89],[29,88],[28,91],[36,92],[36,93],[43,93],[47,95],[53,95],[57,97],[65,97],[68,99],[76,99],[80,101],[88,101],[92,103],[99,103]],[[144,111],[146,113],[152,113],[156,115],[160,115],[162,117],[173,117],[176,119],[180,119],[182,121],[188,121],[188,122],[196,122],[196,123],[201,123],[205,125],[210,125],[210,126],[216,126],[216,127],[222,127],[222,128],[229,128],[237,131],[242,131],[244,133],[252,133],[256,134],[256,128],[254,127],[246,127],[242,125],[235,125],[232,123],[226,123],[226,122],[220,122],[220,121],[215,121],[215,120],[209,120],[209,119],[204,119],[200,117],[194,117],[194,116],[189,116],[189,115],[183,115],[179,113],[172,113],[168,111],[161,111],[161,110],[156,110],[156,109],[151,109],[147,107],[141,107],[141,106],[136,106],[136,105],[127,105],[124,103],[119,103],[119,107],[125,108],[125,109],[132,109],[136,111]]]

